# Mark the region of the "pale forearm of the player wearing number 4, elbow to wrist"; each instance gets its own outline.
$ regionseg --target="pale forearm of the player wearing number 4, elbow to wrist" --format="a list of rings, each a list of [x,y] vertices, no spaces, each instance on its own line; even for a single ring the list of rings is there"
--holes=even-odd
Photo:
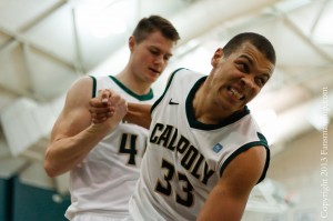
[[[44,169],[50,177],[70,171],[88,155],[109,130],[105,125],[90,125],[77,135],[54,139],[47,149]]]

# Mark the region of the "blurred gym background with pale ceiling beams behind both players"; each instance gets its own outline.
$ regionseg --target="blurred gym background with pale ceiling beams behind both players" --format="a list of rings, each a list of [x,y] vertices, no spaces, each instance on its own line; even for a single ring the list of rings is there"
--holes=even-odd
[[[64,94],[79,77],[120,71],[150,14],[182,38],[158,94],[176,68],[209,73],[215,49],[239,32],[272,41],[274,76],[250,103],[271,167],[243,220],[333,220],[333,0],[0,0],[0,221],[65,220],[68,174],[42,168]]]

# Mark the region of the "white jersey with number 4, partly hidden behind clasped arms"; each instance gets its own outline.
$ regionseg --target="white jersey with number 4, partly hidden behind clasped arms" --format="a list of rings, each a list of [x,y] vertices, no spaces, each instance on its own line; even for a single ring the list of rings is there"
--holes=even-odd
[[[114,77],[93,78],[93,94],[100,89],[112,89],[128,102],[152,103],[152,90],[138,96]],[[139,179],[140,164],[147,145],[148,130],[120,123],[88,157],[70,172],[71,205],[65,217],[94,212],[129,215],[128,203]]]

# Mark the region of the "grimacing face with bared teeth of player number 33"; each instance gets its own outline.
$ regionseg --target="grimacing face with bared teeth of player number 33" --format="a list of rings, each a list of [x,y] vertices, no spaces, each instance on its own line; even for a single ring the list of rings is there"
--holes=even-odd
[[[243,109],[274,70],[274,64],[248,42],[229,57],[223,56],[222,49],[218,49],[215,56],[216,60],[212,60],[212,90],[216,93],[216,102],[232,112]]]

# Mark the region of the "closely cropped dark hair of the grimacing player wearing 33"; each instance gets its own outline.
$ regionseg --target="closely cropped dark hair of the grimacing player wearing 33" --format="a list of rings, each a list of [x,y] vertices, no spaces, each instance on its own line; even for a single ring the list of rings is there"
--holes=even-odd
[[[229,57],[236,51],[243,43],[250,42],[273,64],[276,62],[275,50],[272,43],[263,36],[253,32],[243,32],[233,37],[224,47],[223,54]]]

